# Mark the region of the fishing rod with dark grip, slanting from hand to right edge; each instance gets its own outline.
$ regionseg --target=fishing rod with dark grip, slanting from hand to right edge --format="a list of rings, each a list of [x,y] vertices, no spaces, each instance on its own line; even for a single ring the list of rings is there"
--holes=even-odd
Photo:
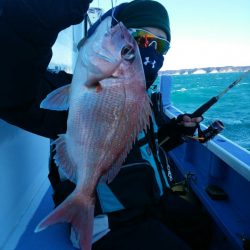
[[[201,105],[198,109],[196,109],[192,114],[189,116],[191,118],[202,116],[211,106],[213,106],[223,95],[225,95],[230,89],[236,86],[246,75],[250,73],[250,70],[243,73],[238,79],[236,79],[233,83],[231,83],[226,89],[224,89],[220,94],[217,96],[212,97],[206,103]]]

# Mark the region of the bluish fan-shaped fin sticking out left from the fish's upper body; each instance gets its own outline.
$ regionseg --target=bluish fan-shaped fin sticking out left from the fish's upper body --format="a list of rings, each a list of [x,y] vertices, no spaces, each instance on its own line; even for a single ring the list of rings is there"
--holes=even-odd
[[[40,107],[51,110],[68,110],[69,109],[70,84],[60,87],[47,95],[41,102]]]

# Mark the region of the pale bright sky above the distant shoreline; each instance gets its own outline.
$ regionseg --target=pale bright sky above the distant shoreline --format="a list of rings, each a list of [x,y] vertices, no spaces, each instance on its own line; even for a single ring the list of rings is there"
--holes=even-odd
[[[162,70],[250,66],[249,0],[158,1],[168,11],[172,36]],[[111,0],[91,6],[106,11]]]

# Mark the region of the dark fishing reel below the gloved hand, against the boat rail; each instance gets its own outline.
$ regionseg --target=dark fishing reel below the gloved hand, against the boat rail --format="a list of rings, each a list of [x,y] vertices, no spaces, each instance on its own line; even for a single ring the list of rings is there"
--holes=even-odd
[[[201,130],[198,126],[198,138],[201,143],[205,143],[213,139],[217,134],[221,133],[224,129],[224,124],[220,120],[215,120],[207,129]]]

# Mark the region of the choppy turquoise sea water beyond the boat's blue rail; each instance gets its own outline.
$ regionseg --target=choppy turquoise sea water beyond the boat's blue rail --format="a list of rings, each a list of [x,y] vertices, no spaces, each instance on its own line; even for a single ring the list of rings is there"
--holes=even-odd
[[[242,73],[172,76],[171,103],[186,113],[194,112],[221,93]],[[204,115],[203,123],[223,122],[223,136],[250,150],[250,74],[222,96]]]

